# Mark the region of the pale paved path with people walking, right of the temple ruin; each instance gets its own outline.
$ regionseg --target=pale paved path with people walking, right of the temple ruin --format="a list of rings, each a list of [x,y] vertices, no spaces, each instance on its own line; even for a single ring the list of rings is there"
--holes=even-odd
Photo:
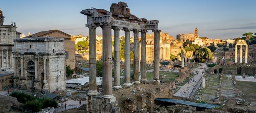
[[[189,97],[189,95],[191,94],[191,92],[193,91],[193,88],[196,86],[197,83],[201,82],[199,81],[202,77],[203,77],[203,74],[202,72],[204,72],[204,67],[207,69],[207,65],[204,64],[204,63],[198,63],[198,64],[201,64],[202,66],[199,66],[197,68],[194,68],[192,70],[192,72],[194,74],[196,74],[191,80],[192,82],[190,83],[186,83],[185,85],[183,86],[178,86],[180,87],[180,90],[178,90],[174,96],[181,96],[181,97]],[[200,67],[203,67],[203,69],[199,69]],[[198,72],[198,75],[197,75],[197,72]],[[197,81],[196,82],[193,82],[193,79],[196,79]],[[192,85],[192,87],[190,86]],[[193,87],[194,85],[194,87]],[[186,92],[186,94],[184,93]]]

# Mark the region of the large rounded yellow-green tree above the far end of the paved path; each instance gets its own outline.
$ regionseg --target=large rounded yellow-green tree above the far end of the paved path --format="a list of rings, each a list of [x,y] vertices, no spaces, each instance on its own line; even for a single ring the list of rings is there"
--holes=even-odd
[[[204,63],[207,59],[212,58],[212,52],[209,48],[203,47],[197,50],[196,57],[197,61]]]

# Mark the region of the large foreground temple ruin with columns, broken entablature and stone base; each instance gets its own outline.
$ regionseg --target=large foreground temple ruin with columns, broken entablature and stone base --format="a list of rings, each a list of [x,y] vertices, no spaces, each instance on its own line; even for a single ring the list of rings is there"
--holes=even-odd
[[[104,9],[86,9],[81,13],[87,16],[86,27],[89,28],[90,36],[90,84],[87,97],[87,112],[112,112],[116,97],[112,94],[112,88],[122,88],[120,84],[120,57],[119,57],[119,32],[125,32],[125,82],[128,87],[131,83],[146,82],[146,32],[154,32],[154,81],[159,83],[159,40],[160,30],[158,29],[158,20],[147,20],[138,18],[130,14],[124,2],[112,4],[110,11]],[[96,28],[101,27],[103,31],[103,95],[99,96],[96,84]],[[111,30],[114,30],[114,85],[112,85],[112,53],[111,53]],[[134,34],[134,77],[130,81],[130,31]],[[142,58],[142,79],[139,81],[139,32],[142,37],[141,58]],[[97,96],[95,96],[97,95]],[[97,100],[97,99],[98,100]],[[101,98],[101,99],[99,99]],[[96,101],[95,101],[96,99]],[[100,102],[105,102],[104,106],[96,107]],[[110,102],[110,103],[107,103]],[[116,103],[117,104],[117,103]],[[112,109],[111,109],[112,108]],[[103,110],[103,111],[102,111]]]

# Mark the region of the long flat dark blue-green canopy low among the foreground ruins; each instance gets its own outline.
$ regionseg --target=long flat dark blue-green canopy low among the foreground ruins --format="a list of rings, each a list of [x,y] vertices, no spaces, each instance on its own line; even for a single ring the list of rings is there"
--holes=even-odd
[[[155,101],[160,102],[160,103],[190,105],[193,107],[207,108],[207,109],[213,109],[213,108],[220,107],[220,105],[213,105],[213,104],[209,104],[209,103],[197,103],[197,102],[190,102],[190,101],[177,100],[177,99],[168,99],[168,98],[158,98],[158,99],[155,99]]]

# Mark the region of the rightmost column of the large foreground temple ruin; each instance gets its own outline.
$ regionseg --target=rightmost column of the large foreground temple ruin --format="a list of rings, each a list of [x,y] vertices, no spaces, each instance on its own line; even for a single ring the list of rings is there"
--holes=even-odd
[[[159,41],[160,41],[160,31],[161,30],[153,30],[154,32],[154,82],[159,81]]]

